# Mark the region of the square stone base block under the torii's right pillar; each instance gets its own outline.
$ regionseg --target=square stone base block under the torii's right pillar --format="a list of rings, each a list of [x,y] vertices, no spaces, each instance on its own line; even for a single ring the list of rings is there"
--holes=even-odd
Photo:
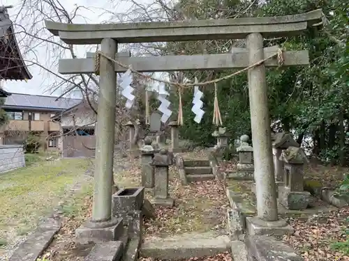
[[[285,234],[292,234],[295,231],[283,219],[279,219],[278,221],[264,221],[256,216],[251,216],[246,217],[246,225],[249,235],[283,236]]]

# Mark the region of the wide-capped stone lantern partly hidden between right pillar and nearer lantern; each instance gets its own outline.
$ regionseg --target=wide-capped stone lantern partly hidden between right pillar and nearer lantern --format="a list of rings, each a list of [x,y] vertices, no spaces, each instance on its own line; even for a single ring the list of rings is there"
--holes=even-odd
[[[276,190],[279,191],[279,187],[283,186],[283,161],[280,160],[281,152],[290,146],[299,147],[299,144],[292,138],[292,135],[287,132],[280,132],[272,136],[273,146],[273,161],[274,161],[274,174],[276,182]]]

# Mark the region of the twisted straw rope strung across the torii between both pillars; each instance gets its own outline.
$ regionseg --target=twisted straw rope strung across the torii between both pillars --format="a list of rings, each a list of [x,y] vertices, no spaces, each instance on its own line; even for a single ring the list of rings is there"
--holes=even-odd
[[[131,72],[133,72],[134,74],[139,75],[140,77],[143,77],[145,79],[150,79],[150,80],[153,80],[153,81],[158,81],[158,82],[161,82],[163,84],[170,84],[172,86],[177,86],[179,88],[192,88],[193,86],[207,86],[209,84],[216,84],[219,81],[224,81],[226,79],[230,79],[230,78],[232,78],[232,77],[234,77],[234,76],[236,76],[236,75],[238,75],[238,74],[240,74],[242,72],[246,72],[247,70],[255,68],[256,66],[261,65],[265,61],[267,61],[267,60],[269,60],[271,58],[274,58],[274,57],[276,57],[278,59],[278,64],[279,65],[283,65],[283,62],[284,62],[283,50],[282,49],[278,49],[278,51],[275,54],[272,54],[272,55],[268,56],[267,58],[262,59],[261,61],[253,63],[252,65],[249,65],[248,67],[246,67],[246,68],[244,68],[242,70],[239,70],[239,71],[234,72],[232,74],[228,74],[228,75],[226,75],[224,77],[221,77],[221,78],[218,78],[218,79],[214,79],[214,80],[211,80],[211,81],[202,81],[202,82],[194,83],[194,84],[179,84],[179,83],[174,82],[174,81],[166,81],[166,80],[163,80],[163,79],[157,79],[157,78],[154,78],[154,77],[142,74],[141,72],[138,72],[138,71],[132,69],[131,66],[124,65],[123,63],[120,63],[119,61],[115,60],[114,58],[112,58],[110,56],[107,56],[106,54],[104,54],[101,51],[98,51],[95,54],[95,59],[94,60],[95,60],[95,71],[96,71],[96,74],[99,74],[100,56],[103,56],[103,57],[107,58],[108,60],[116,63],[117,65],[119,65],[119,66],[121,66],[123,68],[130,69]]]

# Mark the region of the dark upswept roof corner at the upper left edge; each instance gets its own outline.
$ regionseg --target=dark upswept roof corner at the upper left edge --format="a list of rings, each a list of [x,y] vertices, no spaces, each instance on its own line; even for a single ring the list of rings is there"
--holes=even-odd
[[[32,78],[23,61],[13,23],[4,6],[0,6],[0,52],[2,56],[0,58],[0,79],[27,80]]]

